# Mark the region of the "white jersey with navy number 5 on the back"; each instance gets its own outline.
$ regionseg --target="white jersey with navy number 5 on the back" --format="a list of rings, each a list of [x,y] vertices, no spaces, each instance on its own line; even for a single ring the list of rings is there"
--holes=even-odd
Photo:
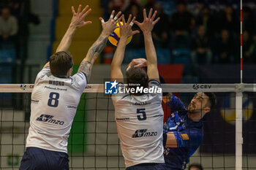
[[[140,163],[165,163],[162,144],[162,93],[142,96],[121,94],[112,96],[116,126],[126,167]],[[148,87],[161,88],[156,80]],[[123,88],[123,89],[122,89]]]

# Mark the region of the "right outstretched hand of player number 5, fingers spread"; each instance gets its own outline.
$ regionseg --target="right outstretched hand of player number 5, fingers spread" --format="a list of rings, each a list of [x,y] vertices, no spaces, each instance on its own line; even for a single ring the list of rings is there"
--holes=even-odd
[[[143,31],[143,33],[151,32],[154,28],[154,25],[160,20],[160,18],[157,18],[154,20],[154,18],[157,15],[157,11],[154,11],[154,14],[152,15],[153,9],[151,8],[148,14],[148,17],[146,15],[146,9],[143,9],[143,23],[139,23],[135,20],[135,24],[140,27],[140,29]]]

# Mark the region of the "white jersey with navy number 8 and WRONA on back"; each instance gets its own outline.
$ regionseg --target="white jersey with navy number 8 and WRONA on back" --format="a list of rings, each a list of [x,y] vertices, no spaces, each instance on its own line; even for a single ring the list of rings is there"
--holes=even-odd
[[[46,67],[37,74],[26,147],[67,152],[69,131],[86,84],[83,72],[69,78],[54,77]]]

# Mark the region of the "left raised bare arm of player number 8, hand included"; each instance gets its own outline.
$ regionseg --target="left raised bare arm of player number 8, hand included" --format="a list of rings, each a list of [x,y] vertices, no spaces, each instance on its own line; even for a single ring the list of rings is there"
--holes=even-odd
[[[57,47],[56,53],[60,51],[67,51],[71,45],[72,37],[75,34],[75,31],[77,28],[86,26],[91,23],[91,21],[84,21],[87,15],[91,12],[91,9],[89,9],[89,6],[86,5],[86,7],[81,12],[82,5],[79,5],[78,12],[75,12],[74,7],[71,7],[72,9],[72,20],[69,24],[69,28],[67,28],[66,33],[64,34],[63,38],[61,39],[61,42],[59,46]],[[45,64],[44,68],[46,66],[50,66],[49,62]]]

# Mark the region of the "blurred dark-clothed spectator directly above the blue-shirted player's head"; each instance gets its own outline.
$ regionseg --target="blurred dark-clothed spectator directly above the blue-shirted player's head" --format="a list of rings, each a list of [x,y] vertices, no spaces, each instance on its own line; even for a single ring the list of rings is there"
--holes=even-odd
[[[192,40],[192,64],[197,69],[198,64],[211,63],[212,53],[205,26],[198,26],[197,36]]]

